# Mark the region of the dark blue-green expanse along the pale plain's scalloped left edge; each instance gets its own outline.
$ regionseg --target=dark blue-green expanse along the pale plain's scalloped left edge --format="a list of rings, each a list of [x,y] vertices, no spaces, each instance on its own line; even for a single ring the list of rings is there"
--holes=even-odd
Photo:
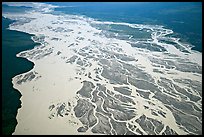
[[[31,35],[6,29],[12,22],[2,17],[2,132],[5,135],[14,132],[17,109],[21,107],[21,94],[13,88],[12,78],[34,65],[27,59],[17,58],[16,54],[37,45]]]

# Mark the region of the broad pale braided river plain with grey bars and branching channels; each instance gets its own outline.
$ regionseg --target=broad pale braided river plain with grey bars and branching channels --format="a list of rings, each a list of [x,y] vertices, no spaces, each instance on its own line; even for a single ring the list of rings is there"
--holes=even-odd
[[[22,94],[13,135],[202,134],[202,53],[171,29],[30,4],[2,14],[15,20],[10,30],[40,43],[16,55],[35,65],[12,79]]]

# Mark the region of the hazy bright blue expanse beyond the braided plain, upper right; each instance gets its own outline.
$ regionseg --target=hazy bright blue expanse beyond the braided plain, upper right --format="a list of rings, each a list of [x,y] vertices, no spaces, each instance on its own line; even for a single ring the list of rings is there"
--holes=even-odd
[[[202,52],[201,2],[51,2],[55,11],[85,15],[101,21],[163,25]]]

